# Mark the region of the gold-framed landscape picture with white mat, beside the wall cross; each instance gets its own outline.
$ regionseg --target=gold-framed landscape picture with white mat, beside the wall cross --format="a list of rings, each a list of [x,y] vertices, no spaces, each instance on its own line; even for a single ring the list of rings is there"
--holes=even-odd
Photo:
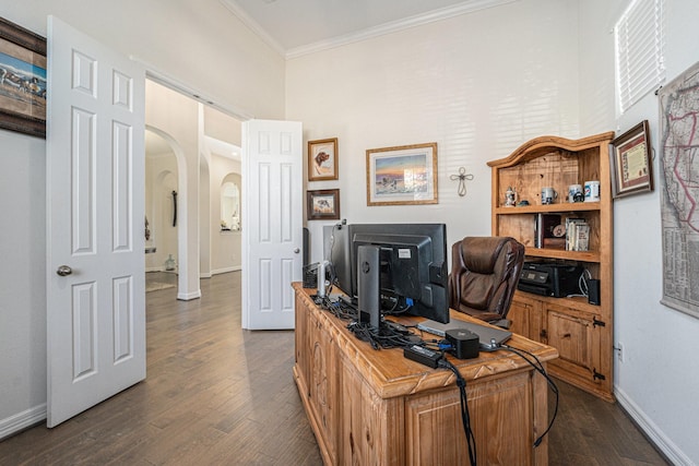
[[[367,205],[437,202],[436,142],[367,151]]]

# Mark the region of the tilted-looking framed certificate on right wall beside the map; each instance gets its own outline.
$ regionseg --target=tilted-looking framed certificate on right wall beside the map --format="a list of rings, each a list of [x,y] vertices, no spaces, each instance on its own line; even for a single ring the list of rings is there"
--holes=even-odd
[[[612,141],[612,195],[620,198],[653,190],[653,164],[648,120]]]

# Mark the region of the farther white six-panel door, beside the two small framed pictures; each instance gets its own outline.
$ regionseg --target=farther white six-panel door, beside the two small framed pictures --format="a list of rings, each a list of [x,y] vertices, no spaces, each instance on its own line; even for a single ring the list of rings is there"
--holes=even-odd
[[[294,328],[303,266],[301,123],[242,124],[242,327]]]

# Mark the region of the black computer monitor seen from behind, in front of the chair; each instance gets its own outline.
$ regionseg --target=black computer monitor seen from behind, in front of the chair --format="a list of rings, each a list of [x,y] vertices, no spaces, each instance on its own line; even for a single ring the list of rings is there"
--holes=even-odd
[[[360,280],[378,277],[379,312],[449,322],[445,224],[354,224],[348,226],[348,241],[351,296],[357,298],[360,311]],[[365,248],[359,263],[360,247]],[[365,302],[372,301],[375,287],[364,290],[371,292]],[[372,310],[374,302],[368,308]]]

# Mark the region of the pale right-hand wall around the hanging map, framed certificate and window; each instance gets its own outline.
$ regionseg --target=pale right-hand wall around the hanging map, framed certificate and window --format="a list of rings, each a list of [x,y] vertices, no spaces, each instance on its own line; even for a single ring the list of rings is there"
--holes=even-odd
[[[617,118],[608,89],[614,86],[614,36],[609,32],[627,0],[581,2],[587,21],[581,37],[581,82],[588,117],[596,128],[604,121],[618,134],[650,123],[655,190],[614,203],[615,344],[624,345],[616,361],[615,391],[619,403],[637,419],[674,464],[699,464],[699,320],[660,303],[662,239],[659,182],[659,101],[651,92]],[[665,67],[667,82],[699,60],[699,2],[666,0]],[[606,72],[603,72],[605,71]],[[589,79],[588,79],[589,77]],[[602,91],[604,106],[596,98]],[[603,116],[604,115],[604,116]],[[696,162],[695,162],[696,163]]]

